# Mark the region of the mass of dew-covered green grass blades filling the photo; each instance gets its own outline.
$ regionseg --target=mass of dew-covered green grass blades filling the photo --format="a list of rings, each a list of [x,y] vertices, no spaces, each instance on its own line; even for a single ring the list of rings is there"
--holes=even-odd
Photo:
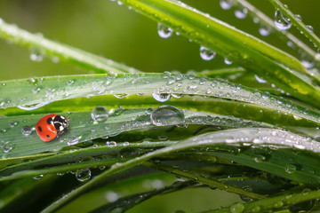
[[[287,6],[269,2],[319,46]],[[0,37],[29,48],[31,59],[87,73],[0,82],[0,211],[134,212],[159,195],[204,188],[242,201],[197,212],[320,209],[319,55],[252,4],[221,3],[258,19],[304,58],[175,0],[118,4],[236,67],[147,73],[0,20]],[[36,122],[52,113],[67,117],[68,130],[44,142]]]

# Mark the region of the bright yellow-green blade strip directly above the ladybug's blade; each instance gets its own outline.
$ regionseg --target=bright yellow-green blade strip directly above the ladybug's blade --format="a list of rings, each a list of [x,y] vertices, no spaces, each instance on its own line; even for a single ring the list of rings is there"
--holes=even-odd
[[[268,94],[268,93],[267,93]],[[176,106],[181,109],[196,109],[197,111],[207,112],[212,114],[221,115],[234,115],[238,118],[267,122],[277,126],[304,126],[314,127],[314,122],[309,122],[307,119],[297,119],[296,116],[288,114],[274,108],[254,105],[250,103],[239,102],[230,99],[209,99],[204,97],[187,96],[181,99],[169,99],[165,102],[166,105]],[[158,107],[162,103],[156,101],[150,94],[143,96],[128,95],[124,99],[117,99],[112,95],[108,96],[95,96],[91,99],[78,98],[78,99],[65,99],[55,101],[49,105],[42,106],[33,110],[33,114],[45,114],[47,112],[55,112],[56,114],[67,113],[72,111],[86,111],[92,110],[95,106],[106,106],[107,108],[132,108],[132,107]],[[29,114],[28,111],[21,110],[17,107],[10,107],[0,110],[0,113],[6,115],[23,115]],[[290,128],[289,130],[293,130]],[[297,132],[300,129],[294,129]],[[300,132],[300,131],[299,131]]]

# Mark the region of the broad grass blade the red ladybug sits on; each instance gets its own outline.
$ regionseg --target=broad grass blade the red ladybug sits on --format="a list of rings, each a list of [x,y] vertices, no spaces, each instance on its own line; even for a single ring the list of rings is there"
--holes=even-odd
[[[109,114],[107,121],[100,123],[93,122],[91,113],[73,112],[63,114],[70,119],[69,130],[65,135],[50,142],[44,142],[38,138],[35,130],[28,136],[21,133],[24,126],[34,127],[44,114],[0,118],[0,130],[4,130],[0,138],[2,142],[0,158],[5,160],[29,154],[56,152],[63,147],[76,145],[93,138],[112,136],[124,131],[147,129],[156,126],[151,121],[149,108],[118,109],[113,114]],[[232,116],[188,110],[183,110],[181,114],[185,117],[185,122],[181,122],[181,124],[272,127],[267,123],[246,121]],[[11,127],[10,123],[16,124]]]

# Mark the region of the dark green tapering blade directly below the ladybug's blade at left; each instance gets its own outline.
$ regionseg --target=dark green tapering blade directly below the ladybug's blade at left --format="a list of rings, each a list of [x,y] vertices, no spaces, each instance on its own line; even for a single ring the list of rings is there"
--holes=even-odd
[[[56,154],[32,162],[24,162],[0,170],[0,181],[22,177],[34,177],[51,173],[64,173],[70,170],[111,166],[116,162],[125,162],[152,149],[170,146],[176,142],[152,142],[118,144],[117,146],[98,146]],[[121,154],[124,157],[119,158]],[[82,162],[85,158],[92,160]]]

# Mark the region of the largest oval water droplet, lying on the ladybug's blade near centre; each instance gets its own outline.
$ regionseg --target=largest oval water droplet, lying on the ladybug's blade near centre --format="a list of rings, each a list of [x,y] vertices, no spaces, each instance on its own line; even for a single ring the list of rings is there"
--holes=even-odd
[[[150,115],[151,122],[156,126],[177,125],[185,122],[185,116],[175,106],[159,106]]]

